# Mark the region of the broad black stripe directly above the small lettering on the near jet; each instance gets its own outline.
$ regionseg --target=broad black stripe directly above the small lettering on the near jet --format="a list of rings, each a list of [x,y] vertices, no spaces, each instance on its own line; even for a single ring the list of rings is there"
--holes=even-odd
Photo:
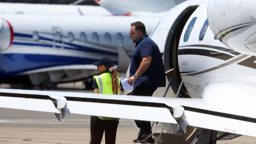
[[[195,49],[195,48],[179,49],[178,55],[203,55],[207,57],[221,59],[224,61],[231,59],[233,57],[232,55],[216,52],[213,50],[204,50],[204,49]]]

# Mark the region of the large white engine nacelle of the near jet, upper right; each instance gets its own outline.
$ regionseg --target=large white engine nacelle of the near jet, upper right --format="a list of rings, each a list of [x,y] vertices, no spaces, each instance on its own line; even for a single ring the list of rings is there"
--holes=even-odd
[[[256,0],[209,0],[211,31],[230,49],[256,55],[255,6]]]

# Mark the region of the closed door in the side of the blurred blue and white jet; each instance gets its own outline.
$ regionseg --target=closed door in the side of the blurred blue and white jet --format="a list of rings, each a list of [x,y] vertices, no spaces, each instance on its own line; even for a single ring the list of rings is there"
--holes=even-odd
[[[52,27],[53,32],[53,47],[64,48],[64,35],[60,27]]]

